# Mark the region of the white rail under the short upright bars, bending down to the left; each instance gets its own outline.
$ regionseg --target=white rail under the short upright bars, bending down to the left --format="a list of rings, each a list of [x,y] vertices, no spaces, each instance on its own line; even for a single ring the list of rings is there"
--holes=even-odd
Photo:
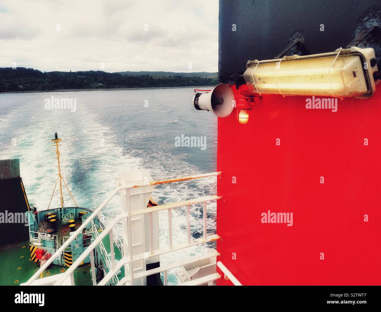
[[[218,235],[210,235],[209,237],[207,237],[207,239],[205,240],[204,238],[198,238],[196,240],[192,240],[192,243],[191,244],[188,244],[188,243],[181,243],[179,245],[175,245],[174,247],[172,248],[162,248],[162,249],[158,249],[158,251],[154,252],[153,254],[150,254],[148,256],[149,257],[154,257],[154,256],[160,256],[162,254],[165,254],[165,253],[170,253],[171,251],[176,251],[176,250],[181,250],[181,249],[184,249],[184,248],[187,248],[187,247],[191,247],[191,246],[196,246],[196,245],[200,245],[202,243],[209,243],[209,242],[213,242],[215,240],[218,240],[220,237]],[[212,254],[212,253],[211,253]],[[142,260],[144,258],[147,258],[147,254],[146,253],[142,253],[142,254],[138,254],[136,256],[133,256],[133,261],[138,261],[138,260]],[[209,257],[208,257],[209,258]],[[197,260],[196,260],[197,261]],[[106,285],[106,283],[111,279],[111,277],[126,263],[129,263],[130,262],[130,258],[123,258],[122,260],[120,260],[116,265],[115,265],[115,272],[109,272],[107,273],[107,275],[101,280],[101,282],[98,283],[99,286],[102,286],[102,285]],[[192,261],[194,262],[194,261]],[[192,263],[190,262],[190,263]],[[176,266],[178,267],[178,266]],[[154,270],[154,269],[152,269]],[[145,271],[147,272],[147,271]],[[162,272],[162,271],[159,271],[159,272]],[[142,272],[143,273],[143,272]],[[139,274],[141,273],[137,273],[136,276],[139,276],[141,277]],[[153,273],[149,273],[149,274],[153,274]],[[144,277],[144,275],[142,275]]]

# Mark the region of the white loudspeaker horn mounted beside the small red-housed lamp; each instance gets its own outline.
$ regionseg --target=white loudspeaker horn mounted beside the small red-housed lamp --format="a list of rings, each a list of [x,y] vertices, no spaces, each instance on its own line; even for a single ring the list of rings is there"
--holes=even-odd
[[[234,108],[234,93],[230,86],[221,83],[206,93],[196,93],[193,105],[198,110],[210,110],[218,117],[227,117]]]

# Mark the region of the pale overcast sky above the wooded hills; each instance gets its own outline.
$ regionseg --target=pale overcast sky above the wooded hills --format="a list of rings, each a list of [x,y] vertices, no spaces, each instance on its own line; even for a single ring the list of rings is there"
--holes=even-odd
[[[0,67],[218,71],[218,0],[1,0]],[[189,69],[189,63],[192,68]]]

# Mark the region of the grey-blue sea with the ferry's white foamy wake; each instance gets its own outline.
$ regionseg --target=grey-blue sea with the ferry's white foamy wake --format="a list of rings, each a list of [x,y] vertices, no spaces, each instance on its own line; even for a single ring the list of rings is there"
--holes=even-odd
[[[192,122],[190,121],[192,114],[195,114],[191,106],[189,107],[192,110],[180,111],[178,115],[168,109],[168,107],[177,106],[178,102],[191,99],[193,90],[191,88],[170,90],[175,93],[173,98],[176,101],[173,103],[167,101],[168,90],[165,92],[162,90],[142,91],[54,93],[55,97],[77,98],[76,112],[45,109],[44,99],[53,95],[52,93],[0,94],[0,103],[7,105],[7,109],[0,112],[2,147],[0,159],[20,158],[21,177],[30,205],[35,205],[38,210],[41,210],[46,209],[50,201],[57,179],[55,148],[49,142],[54,138],[54,132],[58,132],[59,138],[63,139],[60,146],[62,176],[78,206],[97,208],[118,185],[117,178],[122,171],[147,168],[151,170],[154,179],[176,178],[207,172],[189,163],[192,158],[189,155],[191,150],[177,149],[173,152],[173,136],[177,134],[166,134],[167,128],[168,131],[172,129],[171,125],[179,127],[178,130],[175,129],[178,133],[189,134],[193,131],[192,129],[201,131],[200,125],[195,125],[195,118]],[[125,102],[125,98],[128,98],[130,102]],[[145,99],[149,99],[152,111],[139,111],[139,107],[142,107],[140,103],[143,103]],[[130,107],[126,107],[126,103]],[[110,109],[106,109],[105,105],[110,106]],[[119,110],[119,107],[122,108]],[[130,116],[131,112],[135,112],[135,115]],[[186,120],[184,115],[188,116],[189,120]],[[136,118],[140,118],[139,116],[145,119],[144,122],[136,123]],[[154,116],[148,124],[147,116]],[[194,116],[202,116],[200,123],[210,127],[205,132],[213,132],[214,137],[211,138],[210,144],[214,144],[212,147],[215,148],[214,124],[205,122],[205,118],[211,118],[211,114],[195,114]],[[163,129],[164,134],[160,133]],[[14,139],[16,144],[12,144]],[[195,157],[197,154],[193,156]],[[205,160],[199,160],[199,162],[203,163]],[[209,171],[215,171],[215,169]],[[164,204],[215,193],[216,178],[211,177],[157,186],[154,188],[153,197],[159,204]],[[64,200],[66,206],[74,205],[67,192],[64,194]],[[59,193],[56,192],[51,207],[58,207],[59,204]],[[120,199],[114,197],[104,213],[111,218],[119,210]],[[191,206],[193,217],[191,229],[194,237],[203,235],[202,210],[202,204]],[[172,216],[173,244],[186,242],[186,208],[173,210]],[[215,234],[215,202],[208,203],[208,216],[210,216],[208,232]],[[166,211],[159,213],[159,225],[160,247],[166,247],[168,246]],[[165,254],[160,256],[160,262],[165,265],[187,259],[195,254],[205,253],[206,248],[208,248],[206,245],[195,246]],[[177,283],[178,279],[174,270],[169,271],[168,285]]]

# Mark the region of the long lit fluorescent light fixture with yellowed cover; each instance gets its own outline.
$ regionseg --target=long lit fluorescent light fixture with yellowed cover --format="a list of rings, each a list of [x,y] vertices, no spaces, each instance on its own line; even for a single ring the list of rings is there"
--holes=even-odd
[[[249,90],[258,94],[370,98],[376,90],[373,72],[377,70],[372,48],[352,47],[248,61],[243,76]]]

